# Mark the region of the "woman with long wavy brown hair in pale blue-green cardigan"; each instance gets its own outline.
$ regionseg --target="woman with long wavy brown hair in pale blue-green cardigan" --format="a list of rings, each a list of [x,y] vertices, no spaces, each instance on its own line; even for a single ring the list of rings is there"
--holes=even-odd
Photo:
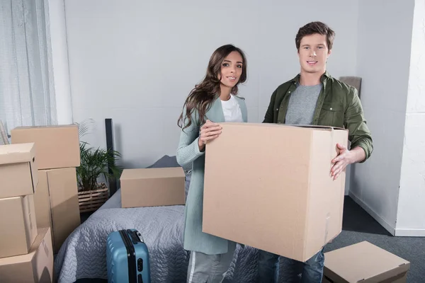
[[[219,47],[210,58],[205,79],[193,88],[179,117],[177,162],[192,170],[183,236],[183,247],[191,251],[188,283],[222,282],[236,248],[236,243],[202,231],[203,180],[205,144],[220,136],[218,123],[246,122],[244,99],[237,96],[237,86],[244,81],[244,52],[233,45]]]

